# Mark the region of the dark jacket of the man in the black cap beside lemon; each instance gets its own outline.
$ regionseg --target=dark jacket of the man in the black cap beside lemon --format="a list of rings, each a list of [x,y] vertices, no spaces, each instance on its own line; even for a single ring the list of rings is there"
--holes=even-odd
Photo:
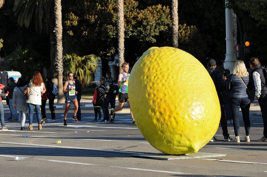
[[[225,90],[225,87],[223,86],[223,82],[222,82],[222,76],[220,75],[219,71],[217,71],[215,69],[207,68],[207,71],[208,71],[208,73],[209,73],[210,77],[212,78],[212,81],[215,85],[219,101],[220,101],[220,103],[222,103],[221,92]]]

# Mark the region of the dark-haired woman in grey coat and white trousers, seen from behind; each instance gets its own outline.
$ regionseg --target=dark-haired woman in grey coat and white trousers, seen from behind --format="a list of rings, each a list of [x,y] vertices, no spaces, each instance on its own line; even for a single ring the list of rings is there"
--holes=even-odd
[[[26,112],[28,109],[28,104],[26,103],[27,97],[24,95],[24,90],[26,88],[25,80],[23,78],[18,78],[17,86],[14,88],[13,96],[12,96],[12,103],[13,108],[19,112],[19,121],[20,121],[20,130],[28,130],[25,127],[26,121]]]

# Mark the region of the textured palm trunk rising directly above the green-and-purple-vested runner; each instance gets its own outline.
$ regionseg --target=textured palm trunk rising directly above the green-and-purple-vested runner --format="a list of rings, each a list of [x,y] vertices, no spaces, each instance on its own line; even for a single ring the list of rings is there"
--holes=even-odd
[[[117,28],[118,28],[118,57],[119,57],[119,67],[120,73],[123,72],[121,65],[124,62],[124,3],[123,0],[117,0],[118,10],[117,10]],[[115,76],[114,76],[115,77]]]

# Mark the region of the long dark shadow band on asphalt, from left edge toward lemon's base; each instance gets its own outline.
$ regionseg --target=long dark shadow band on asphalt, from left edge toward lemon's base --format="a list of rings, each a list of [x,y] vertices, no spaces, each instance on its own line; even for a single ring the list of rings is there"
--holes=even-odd
[[[90,149],[67,149],[55,147],[0,147],[1,155],[14,156],[62,156],[62,157],[131,157],[130,153],[123,152],[105,152],[105,150],[90,150]],[[136,152],[139,154],[140,152]],[[141,152],[143,153],[143,152]],[[144,152],[145,153],[145,152]],[[132,153],[133,154],[133,153]],[[28,157],[27,159],[30,159]]]

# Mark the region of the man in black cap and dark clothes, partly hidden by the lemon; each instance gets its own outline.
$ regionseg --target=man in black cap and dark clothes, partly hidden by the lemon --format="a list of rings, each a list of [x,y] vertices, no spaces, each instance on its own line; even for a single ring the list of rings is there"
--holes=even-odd
[[[217,94],[218,94],[218,98],[219,98],[219,102],[220,102],[220,106],[221,106],[221,126],[222,126],[222,135],[224,136],[224,141],[230,141],[232,140],[232,138],[229,137],[228,134],[228,130],[227,130],[227,122],[226,122],[226,118],[225,118],[225,110],[223,108],[223,101],[222,101],[222,95],[221,92],[225,90],[225,87],[223,86],[223,81],[222,81],[222,76],[220,75],[220,73],[215,70],[216,68],[216,62],[214,59],[210,59],[208,61],[208,67],[207,67],[207,71],[210,75],[210,77],[212,78],[212,81],[215,85]],[[210,141],[214,141],[217,140],[216,137],[214,136]]]

